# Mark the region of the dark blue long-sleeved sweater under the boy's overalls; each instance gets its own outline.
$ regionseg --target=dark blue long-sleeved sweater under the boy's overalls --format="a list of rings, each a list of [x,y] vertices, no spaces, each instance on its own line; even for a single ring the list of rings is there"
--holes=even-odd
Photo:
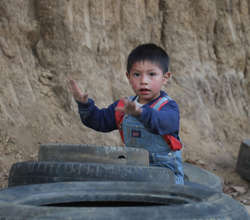
[[[159,97],[165,95],[167,94],[161,91]],[[143,105],[142,113],[137,119],[152,133],[159,135],[171,134],[179,139],[180,116],[177,103],[174,100],[170,100],[158,111],[150,107],[158,98]],[[89,99],[86,104],[77,102],[82,123],[89,128],[101,132],[118,129],[115,120],[115,108],[118,101],[102,109],[99,109],[92,99]]]

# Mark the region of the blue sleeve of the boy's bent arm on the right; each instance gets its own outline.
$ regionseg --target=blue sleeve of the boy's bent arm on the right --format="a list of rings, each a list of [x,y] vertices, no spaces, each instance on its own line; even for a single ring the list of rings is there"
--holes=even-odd
[[[160,111],[143,106],[137,117],[146,128],[159,135],[179,133],[179,108],[175,101],[169,101]]]

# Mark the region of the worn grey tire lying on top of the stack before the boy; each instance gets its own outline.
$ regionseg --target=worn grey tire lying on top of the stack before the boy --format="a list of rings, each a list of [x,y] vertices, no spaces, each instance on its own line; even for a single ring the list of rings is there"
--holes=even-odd
[[[148,151],[141,148],[85,144],[41,144],[39,161],[149,165]]]

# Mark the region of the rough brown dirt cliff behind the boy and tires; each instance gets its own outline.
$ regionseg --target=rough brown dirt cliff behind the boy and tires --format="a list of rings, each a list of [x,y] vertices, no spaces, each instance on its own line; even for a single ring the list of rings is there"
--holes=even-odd
[[[179,104],[184,159],[241,184],[234,167],[250,138],[249,0],[1,0],[0,180],[40,143],[121,145],[84,127],[68,87],[99,107],[132,95],[126,57],[154,42],[171,58],[165,90]]]

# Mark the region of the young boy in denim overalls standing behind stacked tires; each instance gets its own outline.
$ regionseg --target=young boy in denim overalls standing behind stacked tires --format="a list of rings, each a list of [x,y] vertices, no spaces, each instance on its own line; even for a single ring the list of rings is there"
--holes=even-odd
[[[179,109],[161,90],[171,76],[168,64],[169,57],[161,47],[136,47],[128,56],[126,72],[135,96],[118,100],[108,108],[95,106],[74,80],[70,80],[70,86],[84,125],[102,132],[119,129],[127,147],[148,150],[150,165],[172,170],[176,183],[183,184]]]

